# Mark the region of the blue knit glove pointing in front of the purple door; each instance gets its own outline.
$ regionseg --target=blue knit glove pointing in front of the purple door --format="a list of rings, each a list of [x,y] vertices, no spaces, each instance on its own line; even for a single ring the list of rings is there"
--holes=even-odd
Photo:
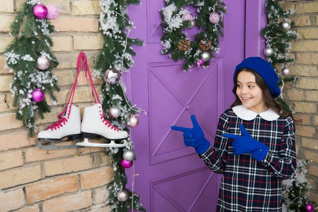
[[[191,116],[193,128],[172,126],[172,130],[183,132],[183,141],[186,146],[193,146],[198,154],[205,153],[210,147],[210,142],[205,139],[204,133],[197,122],[196,116]]]

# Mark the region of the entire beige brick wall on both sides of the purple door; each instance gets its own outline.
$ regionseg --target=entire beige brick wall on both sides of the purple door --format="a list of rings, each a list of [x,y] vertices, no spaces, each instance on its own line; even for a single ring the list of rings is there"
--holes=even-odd
[[[85,208],[83,211],[107,212],[105,185],[113,170],[103,149],[39,149],[37,140],[28,139],[26,129],[15,119],[9,92],[12,74],[3,69],[3,51],[12,40],[9,24],[21,2],[0,1],[0,211],[63,212]],[[62,89],[57,94],[58,105],[44,120],[38,120],[37,131],[54,122],[67,102],[79,50],[85,50],[92,69],[102,45],[98,0],[42,2],[58,6],[61,13],[52,21],[57,31],[52,38],[59,60],[54,73]],[[285,86],[285,100],[293,106],[295,117],[302,119],[302,125],[296,126],[298,157],[312,159],[318,153],[318,1],[286,0],[284,4],[285,8],[296,10],[292,19],[300,35],[292,50],[296,62],[290,66],[291,75],[298,76],[298,80]],[[83,109],[91,101],[90,87],[83,75],[78,85],[74,103]],[[310,199],[318,202],[318,157],[309,163],[308,170]]]

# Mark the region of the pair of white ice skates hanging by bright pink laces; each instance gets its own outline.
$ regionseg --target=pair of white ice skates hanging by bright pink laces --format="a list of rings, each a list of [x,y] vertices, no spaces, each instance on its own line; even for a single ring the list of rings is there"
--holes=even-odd
[[[84,68],[85,76],[89,78],[94,98],[94,105],[84,107],[83,120],[81,123],[80,109],[73,105],[73,97],[79,73]],[[69,97],[66,108],[58,115],[59,120],[46,130],[40,131],[38,139],[40,140],[38,146],[43,149],[68,149],[80,148],[84,146],[94,147],[123,147],[128,143],[125,140],[128,138],[126,131],[119,130],[112,126],[109,120],[104,118],[103,108],[98,97],[96,88],[93,84],[90,71],[87,65],[87,58],[84,51],[82,51],[77,60],[77,76],[75,78],[72,92]],[[108,143],[92,143],[88,139],[102,137]],[[68,140],[62,140],[68,138]],[[80,142],[81,139],[83,142]],[[70,141],[74,140],[74,145],[55,145],[56,141]]]

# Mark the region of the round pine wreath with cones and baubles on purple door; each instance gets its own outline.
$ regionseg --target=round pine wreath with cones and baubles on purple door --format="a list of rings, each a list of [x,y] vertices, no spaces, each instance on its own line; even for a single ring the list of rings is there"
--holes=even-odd
[[[197,17],[193,17],[183,7],[193,5],[197,8]],[[219,52],[218,36],[223,37],[222,17],[227,13],[226,5],[218,0],[166,0],[160,10],[165,35],[161,38],[162,53],[177,61],[185,59],[183,71],[197,64],[204,68],[210,65],[214,52]],[[183,29],[197,25],[204,29],[196,34],[194,41],[187,38]]]

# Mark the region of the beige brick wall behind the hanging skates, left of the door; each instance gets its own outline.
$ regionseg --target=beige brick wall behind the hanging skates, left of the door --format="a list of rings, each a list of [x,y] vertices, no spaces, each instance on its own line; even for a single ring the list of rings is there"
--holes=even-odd
[[[12,74],[3,68],[3,51],[12,40],[9,25],[22,2],[25,0],[0,1],[0,211],[107,212],[106,184],[113,176],[113,168],[104,148],[43,150],[37,147],[36,138],[27,138],[26,128],[15,119],[9,92]],[[38,120],[37,131],[56,121],[67,103],[79,51],[85,50],[93,70],[94,58],[103,43],[98,27],[98,0],[42,0],[42,3],[54,4],[60,10],[60,17],[52,21],[56,28],[52,38],[53,51],[59,60],[54,73],[62,89],[57,94],[57,106],[44,120]],[[89,82],[81,74],[74,103],[83,110],[91,101]]]

